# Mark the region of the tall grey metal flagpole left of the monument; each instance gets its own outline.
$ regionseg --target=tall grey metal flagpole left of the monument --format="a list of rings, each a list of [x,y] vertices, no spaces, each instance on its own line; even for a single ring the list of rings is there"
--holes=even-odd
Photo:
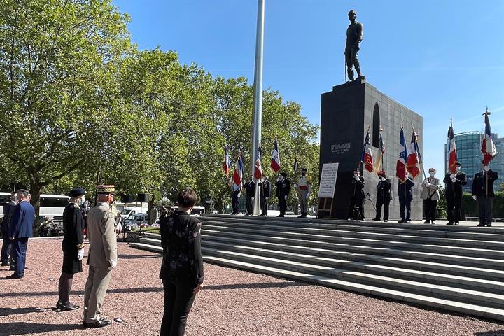
[[[258,0],[258,22],[255,34],[255,71],[254,71],[254,97],[253,97],[253,128],[252,128],[252,151],[251,151],[251,174],[253,174],[255,161],[257,160],[258,146],[261,142],[262,123],[262,47],[264,44],[264,12],[265,0]],[[258,181],[255,181],[255,204],[258,204]],[[257,206],[253,214],[259,214]]]

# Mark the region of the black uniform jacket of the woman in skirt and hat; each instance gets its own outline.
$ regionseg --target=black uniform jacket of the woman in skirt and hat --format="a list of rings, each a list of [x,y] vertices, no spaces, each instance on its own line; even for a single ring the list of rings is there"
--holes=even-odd
[[[76,203],[68,204],[63,210],[63,230],[63,251],[77,257],[78,250],[84,247],[84,217]]]

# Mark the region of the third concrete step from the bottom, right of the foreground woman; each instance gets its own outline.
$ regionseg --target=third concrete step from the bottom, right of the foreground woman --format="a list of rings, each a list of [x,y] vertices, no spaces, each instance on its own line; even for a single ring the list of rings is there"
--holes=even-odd
[[[404,279],[411,281],[421,281],[432,283],[434,285],[444,285],[456,288],[481,290],[485,293],[500,294],[504,292],[503,281],[492,281],[482,278],[468,276],[456,276],[453,274],[444,274],[441,272],[426,272],[418,269],[408,269],[400,266],[380,265],[364,260],[341,260],[327,258],[323,256],[309,255],[304,253],[293,253],[288,251],[278,251],[275,249],[257,248],[251,246],[237,246],[232,244],[223,244],[216,241],[205,241],[205,248],[213,248],[219,251],[235,251],[251,255],[260,255],[269,258],[278,258],[282,260],[300,261],[311,265],[332,267],[338,269],[349,269],[352,271],[365,272],[368,274],[377,274],[381,276],[391,276],[395,279]],[[504,303],[504,302],[503,302]]]

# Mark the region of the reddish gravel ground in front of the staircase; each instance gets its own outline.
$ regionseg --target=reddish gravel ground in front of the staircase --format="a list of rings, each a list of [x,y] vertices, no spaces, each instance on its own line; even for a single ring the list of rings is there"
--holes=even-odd
[[[82,309],[52,311],[61,269],[60,241],[29,241],[25,278],[0,269],[0,335],[158,335],[161,258],[119,244],[102,314],[124,323],[84,330]],[[83,304],[87,276],[76,274],[71,300]],[[340,290],[205,264],[206,289],[189,316],[188,336],[212,335],[504,335],[504,325]]]

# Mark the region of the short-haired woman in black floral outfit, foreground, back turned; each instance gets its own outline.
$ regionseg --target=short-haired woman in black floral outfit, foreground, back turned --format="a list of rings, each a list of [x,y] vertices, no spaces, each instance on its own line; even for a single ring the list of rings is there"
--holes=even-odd
[[[182,190],[177,195],[179,209],[161,220],[160,278],[165,288],[161,336],[184,335],[196,293],[203,288],[201,222],[190,216],[196,201],[194,190]]]

